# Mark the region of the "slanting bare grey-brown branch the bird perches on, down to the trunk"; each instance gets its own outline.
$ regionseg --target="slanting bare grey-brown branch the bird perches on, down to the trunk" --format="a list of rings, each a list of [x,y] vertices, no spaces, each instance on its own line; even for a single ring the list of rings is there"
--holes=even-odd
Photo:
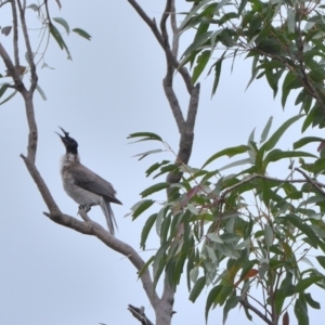
[[[98,237],[109,248],[126,256],[139,272],[143,269],[145,263],[139,256],[139,253],[128,244],[112,236],[100,224],[98,224],[94,221],[81,222],[70,216],[62,213],[56,203],[54,202],[46,182],[40,176],[37,167],[24,155],[21,155],[21,157],[23,158],[32,180],[35,181],[46,205],[50,210],[50,213],[44,213],[46,216],[48,216],[52,221],[67,226],[69,229],[73,229],[81,234]],[[154,290],[153,281],[148,270],[142,273],[141,282],[152,306],[156,308],[157,303],[159,302],[159,298],[156,291]]]

